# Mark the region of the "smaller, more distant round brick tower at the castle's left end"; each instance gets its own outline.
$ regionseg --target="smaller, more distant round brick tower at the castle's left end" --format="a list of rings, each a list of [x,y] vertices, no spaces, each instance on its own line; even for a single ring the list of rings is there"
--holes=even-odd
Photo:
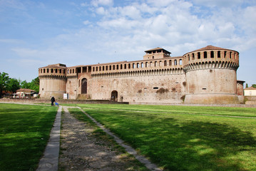
[[[39,68],[41,98],[63,98],[66,93],[66,65],[61,63]]]

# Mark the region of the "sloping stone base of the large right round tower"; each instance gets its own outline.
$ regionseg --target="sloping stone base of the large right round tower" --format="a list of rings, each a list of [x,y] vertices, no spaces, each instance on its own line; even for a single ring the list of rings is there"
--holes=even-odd
[[[240,104],[235,94],[189,94],[185,95],[185,104]]]

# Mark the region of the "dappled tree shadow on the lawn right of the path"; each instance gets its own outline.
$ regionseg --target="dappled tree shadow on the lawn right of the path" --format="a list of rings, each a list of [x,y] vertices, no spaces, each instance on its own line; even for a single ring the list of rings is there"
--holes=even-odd
[[[250,130],[150,113],[87,112],[165,170],[256,168],[256,140]]]

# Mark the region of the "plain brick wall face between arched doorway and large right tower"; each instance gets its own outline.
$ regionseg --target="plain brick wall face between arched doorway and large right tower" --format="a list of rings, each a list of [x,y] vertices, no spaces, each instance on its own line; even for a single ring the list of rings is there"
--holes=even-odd
[[[118,101],[182,103],[185,95],[185,75],[155,74],[155,76],[124,76],[93,78],[89,81],[92,99],[110,100],[118,92]]]

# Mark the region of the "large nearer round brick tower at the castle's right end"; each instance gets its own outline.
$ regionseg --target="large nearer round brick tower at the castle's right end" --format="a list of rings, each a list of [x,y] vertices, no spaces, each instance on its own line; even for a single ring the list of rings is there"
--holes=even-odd
[[[184,103],[236,104],[239,53],[206,46],[183,56],[186,78]]]

